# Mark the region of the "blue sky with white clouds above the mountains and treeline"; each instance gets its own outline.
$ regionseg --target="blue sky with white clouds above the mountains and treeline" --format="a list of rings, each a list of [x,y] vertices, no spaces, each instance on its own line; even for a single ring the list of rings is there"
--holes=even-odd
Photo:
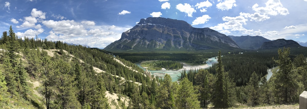
[[[0,0],[0,31],[104,48],[142,18],[307,42],[307,0]]]

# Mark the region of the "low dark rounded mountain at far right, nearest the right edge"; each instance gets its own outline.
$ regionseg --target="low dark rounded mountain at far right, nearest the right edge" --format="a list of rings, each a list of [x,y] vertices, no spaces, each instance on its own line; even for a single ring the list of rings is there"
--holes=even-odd
[[[303,47],[293,40],[277,39],[274,41],[264,42],[259,49],[276,49],[281,47]]]

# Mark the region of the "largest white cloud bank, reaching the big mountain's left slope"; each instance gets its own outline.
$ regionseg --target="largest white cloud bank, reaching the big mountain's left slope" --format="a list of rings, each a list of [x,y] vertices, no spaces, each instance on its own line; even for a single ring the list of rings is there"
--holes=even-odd
[[[74,20],[43,21],[43,25],[51,28],[49,40],[61,40],[67,43],[79,43],[91,47],[104,48],[110,43],[119,40],[122,32],[132,27],[115,25],[96,26],[93,21],[76,22]]]

